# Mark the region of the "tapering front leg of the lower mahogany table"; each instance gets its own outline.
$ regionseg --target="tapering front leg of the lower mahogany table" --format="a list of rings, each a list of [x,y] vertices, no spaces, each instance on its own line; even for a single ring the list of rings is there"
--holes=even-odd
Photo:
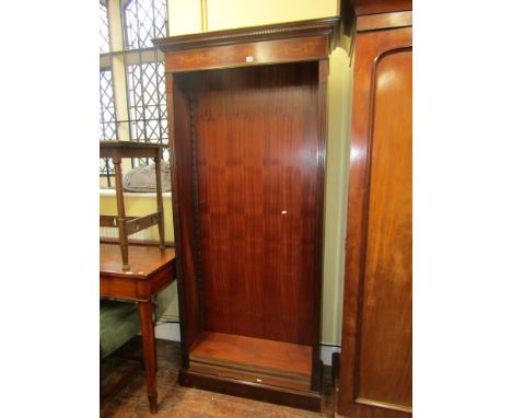
[[[152,318],[153,305],[151,301],[139,302],[140,330],[142,334],[142,349],[144,351],[146,384],[150,411],[156,413],[156,357],[154,345],[154,329]]]

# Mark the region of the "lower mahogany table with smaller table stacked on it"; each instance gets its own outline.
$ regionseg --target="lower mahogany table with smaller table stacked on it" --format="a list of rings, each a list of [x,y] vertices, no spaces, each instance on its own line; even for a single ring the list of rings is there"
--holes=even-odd
[[[176,278],[174,248],[129,245],[130,269],[123,269],[119,244],[100,244],[100,295],[136,301],[144,356],[150,411],[156,413],[156,351],[151,299]]]

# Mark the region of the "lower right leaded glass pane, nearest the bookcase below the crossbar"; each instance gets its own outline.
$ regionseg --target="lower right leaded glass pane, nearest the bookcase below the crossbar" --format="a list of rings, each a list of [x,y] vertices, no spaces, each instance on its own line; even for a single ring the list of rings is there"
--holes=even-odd
[[[166,143],[168,132],[164,65],[129,65],[126,67],[126,77],[131,140]],[[163,159],[168,161],[168,150],[164,150]],[[146,159],[133,160],[133,166],[147,163]]]

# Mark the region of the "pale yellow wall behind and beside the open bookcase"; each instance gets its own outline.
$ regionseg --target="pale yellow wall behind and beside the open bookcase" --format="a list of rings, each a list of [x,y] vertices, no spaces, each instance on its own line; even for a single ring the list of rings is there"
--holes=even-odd
[[[168,0],[167,4],[171,36],[199,33],[203,28],[218,31],[339,15],[339,2],[336,0]],[[325,345],[339,345],[341,339],[351,70],[347,53],[337,47],[330,56],[327,94],[328,139],[322,323],[322,342]],[[138,209],[142,210],[142,207]],[[167,219],[171,219],[171,211],[167,207],[165,213],[166,228],[168,228]],[[171,310],[175,311],[173,307]]]

